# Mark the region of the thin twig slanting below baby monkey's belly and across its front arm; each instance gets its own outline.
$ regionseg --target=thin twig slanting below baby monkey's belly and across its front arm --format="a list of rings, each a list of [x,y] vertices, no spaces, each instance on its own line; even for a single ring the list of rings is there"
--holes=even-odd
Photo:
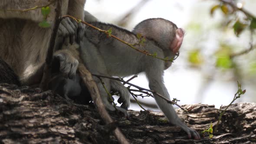
[[[93,76],[96,76],[96,77],[102,77],[102,78],[108,78],[108,79],[113,79],[113,80],[116,80],[116,81],[119,81],[119,82],[124,82],[125,84],[128,84],[128,85],[131,85],[135,88],[138,88],[139,90],[141,91],[148,91],[148,92],[151,92],[153,93],[154,95],[157,95],[158,97],[160,98],[163,98],[167,103],[171,104],[171,105],[177,105],[179,108],[181,108],[183,111],[187,111],[186,109],[182,108],[180,105],[178,105],[176,102],[174,101],[171,101],[169,100],[168,98],[165,98],[163,95],[160,95],[158,92],[156,91],[153,91],[153,90],[150,90],[150,89],[146,89],[146,88],[142,88],[142,87],[139,87],[138,85],[134,85],[130,82],[126,82],[125,80],[123,79],[120,79],[120,78],[115,78],[115,77],[111,77],[111,76],[104,76],[104,75],[97,75],[97,74],[92,74]]]

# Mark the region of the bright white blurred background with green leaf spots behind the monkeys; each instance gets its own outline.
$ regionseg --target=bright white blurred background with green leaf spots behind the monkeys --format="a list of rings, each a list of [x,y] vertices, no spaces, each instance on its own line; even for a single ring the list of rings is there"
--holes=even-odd
[[[85,10],[102,22],[132,30],[148,18],[161,17],[185,29],[180,56],[164,73],[164,82],[178,104],[228,105],[237,91],[237,80],[246,89],[236,102],[256,101],[256,19],[233,10],[221,0],[87,0]],[[233,1],[256,16],[255,0]],[[255,18],[255,17],[254,17]],[[252,30],[253,31],[253,30]],[[253,43],[252,43],[253,42]],[[246,54],[233,56],[246,49]],[[131,83],[148,88],[144,74]],[[133,98],[131,98],[133,99]],[[138,98],[144,108],[157,110],[153,98]],[[115,98],[117,100],[117,98]],[[129,109],[141,110],[133,102]]]

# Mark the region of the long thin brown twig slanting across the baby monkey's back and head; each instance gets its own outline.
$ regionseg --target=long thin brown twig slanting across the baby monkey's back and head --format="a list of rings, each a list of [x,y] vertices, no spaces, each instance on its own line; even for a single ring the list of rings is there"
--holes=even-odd
[[[170,61],[170,62],[173,62],[173,59],[160,58],[160,57],[158,57],[158,56],[155,56],[154,54],[148,53],[148,52],[145,51],[145,50],[137,49],[137,48],[134,46],[134,44],[127,43],[127,42],[125,42],[124,40],[119,39],[118,37],[116,37],[116,36],[114,36],[114,35],[108,33],[107,30],[99,29],[98,27],[92,26],[91,24],[86,23],[85,21],[82,21],[82,20],[80,20],[80,19],[78,19],[78,18],[75,18],[74,16],[70,16],[70,15],[64,15],[64,16],[62,16],[62,18],[64,18],[64,17],[70,17],[70,18],[72,18],[73,20],[77,21],[78,23],[81,22],[81,23],[83,23],[83,24],[85,24],[85,25],[87,25],[87,26],[92,27],[93,29],[96,29],[96,30],[98,30],[98,31],[100,31],[100,32],[102,32],[102,33],[105,33],[106,35],[117,39],[118,41],[120,41],[120,42],[122,42],[122,43],[124,43],[124,44],[126,44],[126,45],[128,45],[128,46],[130,46],[132,49],[135,49],[135,50],[138,51],[138,52],[141,52],[141,53],[145,54],[146,56],[152,56],[152,57],[154,57],[154,58],[156,58],[156,59],[161,59],[161,60],[163,60],[163,61]]]

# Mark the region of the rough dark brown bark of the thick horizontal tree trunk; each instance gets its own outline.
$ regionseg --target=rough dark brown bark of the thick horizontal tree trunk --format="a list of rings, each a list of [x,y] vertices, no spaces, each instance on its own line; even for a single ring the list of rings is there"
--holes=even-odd
[[[217,124],[214,105],[186,105],[179,116],[203,131]],[[93,105],[77,105],[51,91],[0,84],[0,144],[116,144],[118,126],[133,144],[253,144],[256,143],[256,104],[234,104],[223,115],[213,138],[187,140],[184,131],[167,123],[161,112],[128,111],[130,119],[111,113],[116,123],[105,125]],[[213,127],[214,128],[214,127]]]

